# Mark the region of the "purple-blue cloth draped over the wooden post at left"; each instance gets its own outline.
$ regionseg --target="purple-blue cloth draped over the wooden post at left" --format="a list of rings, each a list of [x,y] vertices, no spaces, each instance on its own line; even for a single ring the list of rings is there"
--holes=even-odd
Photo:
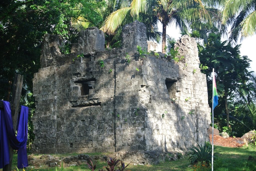
[[[28,166],[27,158],[27,135],[28,135],[28,107],[21,106],[20,113],[17,120],[17,136],[15,135],[13,129],[12,115],[10,103],[8,101],[3,101],[4,109],[1,109],[1,154],[0,154],[0,168],[4,165],[9,164],[9,149],[8,143],[9,139],[10,145],[13,149],[18,150],[18,168],[23,168]],[[4,124],[5,123],[5,124]],[[5,132],[2,133],[2,132]],[[7,134],[6,134],[7,133]],[[3,136],[2,136],[3,135]],[[7,138],[8,137],[8,138]],[[7,145],[7,148],[6,148]],[[8,151],[8,152],[6,152]]]

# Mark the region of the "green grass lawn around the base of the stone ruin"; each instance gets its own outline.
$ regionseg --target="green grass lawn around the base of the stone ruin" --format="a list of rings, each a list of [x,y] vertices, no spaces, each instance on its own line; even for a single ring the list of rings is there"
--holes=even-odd
[[[217,146],[216,152],[219,152],[218,159],[214,163],[214,170],[216,171],[256,171],[256,162],[255,161],[248,161],[249,156],[253,156],[256,158],[256,149],[254,148],[230,148],[230,147],[221,147]],[[76,155],[74,154],[62,154],[62,156],[69,156],[69,155]],[[107,155],[106,153],[91,153],[88,155]],[[40,157],[41,155],[38,155]],[[60,155],[58,155],[60,156]],[[126,163],[127,164],[127,163]],[[17,154],[14,155],[13,161],[13,168],[17,165]],[[188,156],[184,156],[177,161],[167,161],[162,162],[158,165],[129,165],[127,169],[132,171],[169,171],[169,170],[177,170],[177,171],[194,171],[194,168],[188,167],[190,163],[188,162]],[[98,162],[96,164],[96,170],[102,169],[103,166],[106,166],[104,162]],[[17,169],[16,169],[17,170]],[[20,171],[22,169],[19,169]],[[25,170],[31,170],[31,168],[27,168]],[[35,171],[55,171],[53,167],[41,167],[41,168],[33,168]],[[60,171],[60,168],[58,168]],[[89,171],[87,165],[80,165],[80,166],[72,166],[72,167],[65,167],[63,171]],[[205,171],[210,171],[211,168],[204,168]],[[202,170],[202,171],[204,171]],[[199,169],[198,169],[199,171]]]

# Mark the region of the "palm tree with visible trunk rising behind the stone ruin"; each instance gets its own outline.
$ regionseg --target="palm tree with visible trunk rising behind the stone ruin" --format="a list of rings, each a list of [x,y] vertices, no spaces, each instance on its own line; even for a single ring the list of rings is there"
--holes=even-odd
[[[201,0],[133,0],[130,7],[118,9],[110,14],[103,30],[114,34],[115,30],[130,18],[136,19],[141,14],[148,14],[162,23],[162,52],[165,53],[167,25],[175,23],[176,27],[188,32],[188,26],[194,22],[212,23],[217,11],[205,8]],[[197,26],[200,27],[200,24]]]

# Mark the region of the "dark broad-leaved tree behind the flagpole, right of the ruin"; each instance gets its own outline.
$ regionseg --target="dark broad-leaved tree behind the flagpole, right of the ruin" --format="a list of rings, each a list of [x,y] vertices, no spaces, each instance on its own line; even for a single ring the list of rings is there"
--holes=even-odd
[[[220,34],[210,33],[208,44],[205,47],[198,45],[199,59],[202,65],[208,66],[203,72],[207,75],[208,87],[212,87],[212,69],[215,69],[217,89],[220,93],[219,113],[225,109],[227,115],[227,126],[229,127],[229,104],[230,97],[241,84],[249,79],[250,60],[247,56],[240,56],[240,45],[232,47],[227,41],[220,41]],[[209,89],[208,92],[211,92]],[[211,102],[211,93],[208,94]]]

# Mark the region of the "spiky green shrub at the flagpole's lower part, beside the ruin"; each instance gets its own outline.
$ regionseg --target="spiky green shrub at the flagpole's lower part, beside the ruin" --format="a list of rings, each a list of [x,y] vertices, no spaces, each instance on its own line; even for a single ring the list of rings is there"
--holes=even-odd
[[[191,152],[188,153],[190,156],[188,158],[189,162],[191,164],[198,163],[198,162],[206,162],[207,164],[211,163],[211,152],[212,152],[212,147],[204,143],[204,145],[199,145],[199,148],[196,146],[192,146],[192,148],[189,148]],[[216,148],[216,147],[215,147]],[[215,149],[214,148],[214,149]],[[213,160],[215,161],[216,154],[213,154]]]

